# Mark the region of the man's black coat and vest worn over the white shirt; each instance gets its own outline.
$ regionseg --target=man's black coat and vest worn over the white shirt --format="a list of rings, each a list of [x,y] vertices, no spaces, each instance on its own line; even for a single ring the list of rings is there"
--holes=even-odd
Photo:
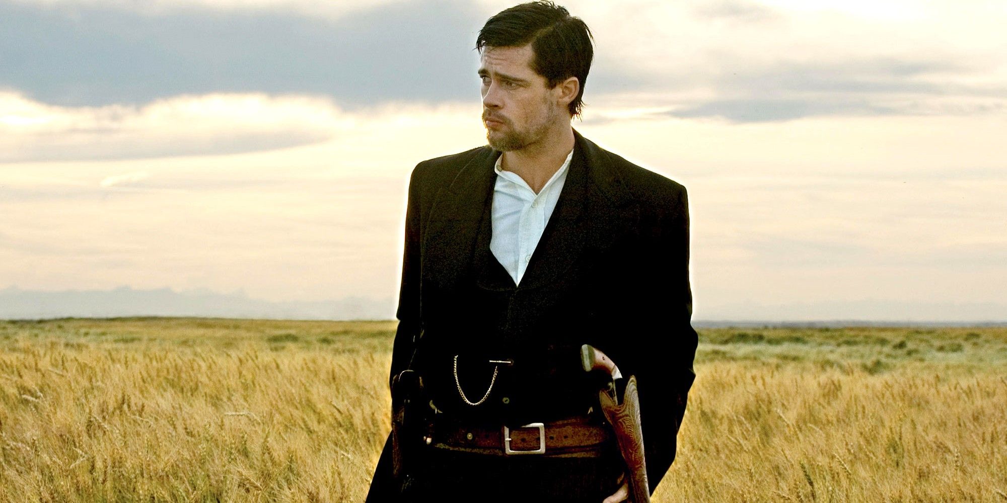
[[[686,190],[574,135],[563,190],[517,288],[513,281],[510,287],[493,284],[487,274],[500,268],[487,259],[486,235],[500,153],[484,146],[416,166],[390,378],[409,365],[418,345],[412,366],[436,388],[439,407],[481,410],[483,418],[509,424],[548,421],[564,411],[563,400],[555,398],[567,395],[571,381],[557,377],[555,368],[536,367],[546,361],[555,366],[554,359],[536,355],[556,349],[563,362],[575,362],[566,351],[592,344],[624,376],[636,375],[653,491],[675,458],[695,377]],[[502,299],[506,306],[493,304],[490,311],[487,299]],[[515,359],[514,369],[500,371],[493,393],[522,398],[503,400],[506,405],[488,400],[481,408],[460,405],[450,373],[450,355],[458,353]],[[522,367],[522,361],[535,364]],[[466,369],[477,376],[461,379],[469,399],[486,389],[486,372],[491,367]],[[390,451],[387,443],[369,501],[393,499]]]

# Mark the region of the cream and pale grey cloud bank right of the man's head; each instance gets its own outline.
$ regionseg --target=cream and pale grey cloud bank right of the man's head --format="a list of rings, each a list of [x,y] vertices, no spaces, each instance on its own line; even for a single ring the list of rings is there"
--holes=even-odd
[[[898,15],[848,7],[633,2],[631,20],[595,29],[586,101],[740,123],[1007,110],[1007,52],[997,49],[1007,12],[981,9],[970,22],[941,1],[903,3]]]

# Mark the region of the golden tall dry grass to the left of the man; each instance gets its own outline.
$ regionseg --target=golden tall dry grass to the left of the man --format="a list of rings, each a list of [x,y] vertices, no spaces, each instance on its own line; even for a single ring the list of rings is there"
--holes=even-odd
[[[0,324],[0,500],[358,501],[394,324]]]

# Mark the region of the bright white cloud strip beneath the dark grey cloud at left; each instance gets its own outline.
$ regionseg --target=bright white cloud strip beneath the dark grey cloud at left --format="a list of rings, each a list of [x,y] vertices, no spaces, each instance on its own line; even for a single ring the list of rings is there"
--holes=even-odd
[[[180,96],[75,108],[0,92],[0,163],[275,150],[323,142],[352,126],[330,101],[310,97]]]

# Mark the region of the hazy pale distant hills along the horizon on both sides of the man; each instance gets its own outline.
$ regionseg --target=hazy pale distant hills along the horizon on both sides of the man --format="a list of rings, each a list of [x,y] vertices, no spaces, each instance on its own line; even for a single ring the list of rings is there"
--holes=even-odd
[[[198,316],[277,320],[392,320],[396,299],[346,297],[331,301],[272,302],[244,292],[176,292],[168,288],[41,292],[0,290],[0,319],[111,318],[122,316]],[[659,313],[660,315],[660,313]],[[693,317],[697,327],[851,325],[1005,325],[1007,305],[941,304],[900,301],[846,301],[814,304],[710,306]]]

